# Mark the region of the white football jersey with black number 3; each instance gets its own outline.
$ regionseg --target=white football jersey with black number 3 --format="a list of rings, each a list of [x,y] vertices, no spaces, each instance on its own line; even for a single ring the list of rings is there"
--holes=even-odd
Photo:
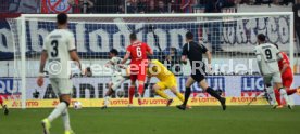
[[[70,52],[76,50],[73,32],[67,29],[53,30],[46,37],[42,49],[48,53],[49,77],[70,78]]]

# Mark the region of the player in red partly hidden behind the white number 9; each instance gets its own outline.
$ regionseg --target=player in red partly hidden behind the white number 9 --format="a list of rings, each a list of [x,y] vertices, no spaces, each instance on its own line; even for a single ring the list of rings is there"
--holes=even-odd
[[[279,49],[277,44],[275,44],[275,46],[277,49]],[[278,66],[279,66],[279,70],[282,73],[283,85],[287,89],[287,94],[292,95],[297,91],[300,92],[300,89],[299,88],[290,89],[292,81],[293,81],[293,75],[292,75],[292,70],[290,67],[290,62],[285,52],[280,52],[280,54],[283,55],[283,58],[278,62]],[[284,106],[282,104],[280,93],[278,90],[275,90],[275,96],[276,96],[276,100],[278,103],[277,108],[283,108]]]

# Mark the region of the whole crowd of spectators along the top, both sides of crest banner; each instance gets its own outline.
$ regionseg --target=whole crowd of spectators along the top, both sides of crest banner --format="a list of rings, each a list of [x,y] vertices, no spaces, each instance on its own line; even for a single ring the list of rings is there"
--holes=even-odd
[[[221,12],[237,4],[288,5],[297,0],[65,0],[71,13],[192,13],[195,9]],[[39,13],[47,9],[41,0],[0,0],[0,12]]]

